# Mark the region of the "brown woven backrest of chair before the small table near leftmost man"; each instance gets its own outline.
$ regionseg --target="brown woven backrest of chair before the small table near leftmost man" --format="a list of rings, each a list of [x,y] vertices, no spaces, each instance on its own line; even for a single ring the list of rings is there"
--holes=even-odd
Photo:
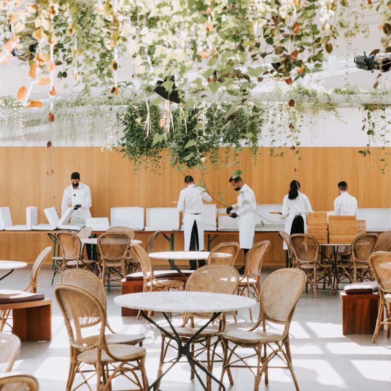
[[[122,232],[105,232],[98,237],[101,259],[119,261],[126,258],[130,247],[130,237]]]

